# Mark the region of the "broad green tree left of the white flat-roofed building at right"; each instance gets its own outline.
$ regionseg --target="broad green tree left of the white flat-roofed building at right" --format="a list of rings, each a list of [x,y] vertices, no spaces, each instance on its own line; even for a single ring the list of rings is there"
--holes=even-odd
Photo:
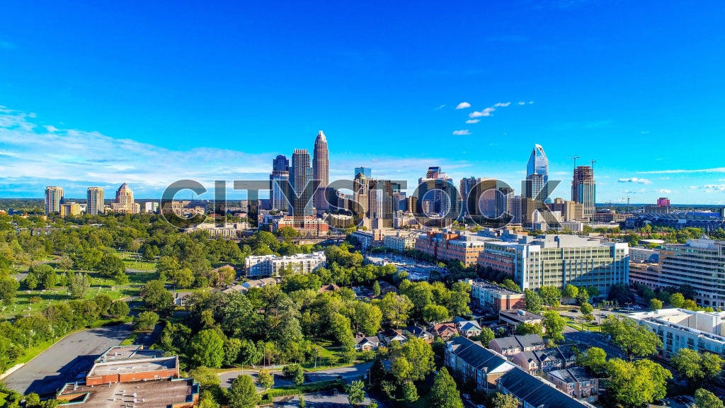
[[[662,340],[655,332],[632,319],[620,320],[610,315],[602,323],[602,332],[612,336],[613,342],[624,351],[630,362],[634,357],[651,356],[662,347]]]

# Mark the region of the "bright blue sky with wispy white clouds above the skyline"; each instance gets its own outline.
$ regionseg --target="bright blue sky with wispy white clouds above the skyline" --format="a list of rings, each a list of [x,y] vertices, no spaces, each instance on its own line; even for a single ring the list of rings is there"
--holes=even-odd
[[[265,179],[323,129],[331,179],[518,187],[539,143],[555,197],[576,155],[600,203],[725,204],[724,20],[722,1],[6,1],[0,196]]]

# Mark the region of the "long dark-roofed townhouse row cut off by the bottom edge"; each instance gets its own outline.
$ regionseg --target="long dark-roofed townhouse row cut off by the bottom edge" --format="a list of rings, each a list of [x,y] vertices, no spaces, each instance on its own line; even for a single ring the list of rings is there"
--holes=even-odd
[[[522,408],[592,408],[592,405],[573,399],[542,378],[515,368],[497,381],[500,392],[512,394]]]

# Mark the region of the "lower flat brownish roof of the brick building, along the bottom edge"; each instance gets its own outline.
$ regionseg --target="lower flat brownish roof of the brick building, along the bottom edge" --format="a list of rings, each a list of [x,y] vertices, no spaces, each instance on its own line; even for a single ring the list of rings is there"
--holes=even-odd
[[[199,385],[195,385],[191,379],[113,383],[94,387],[78,385],[77,388],[70,383],[60,391],[57,399],[80,402],[83,408],[106,408],[133,407],[135,398],[139,407],[150,408],[170,407],[192,401],[195,393],[199,393]]]

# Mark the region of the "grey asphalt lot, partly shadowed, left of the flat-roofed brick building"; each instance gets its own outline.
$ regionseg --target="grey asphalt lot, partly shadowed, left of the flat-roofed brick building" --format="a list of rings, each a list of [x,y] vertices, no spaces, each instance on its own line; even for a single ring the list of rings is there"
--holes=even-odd
[[[22,394],[55,393],[93,365],[94,359],[130,335],[130,324],[83,330],[55,343],[3,381]]]

